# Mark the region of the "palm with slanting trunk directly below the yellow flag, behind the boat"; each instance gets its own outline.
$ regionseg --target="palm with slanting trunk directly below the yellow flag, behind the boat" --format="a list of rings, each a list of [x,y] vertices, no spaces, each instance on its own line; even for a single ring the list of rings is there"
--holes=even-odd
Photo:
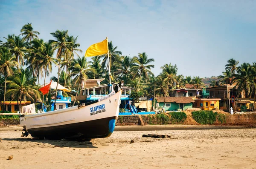
[[[78,56],[76,60],[73,60],[72,66],[70,67],[70,75],[75,76],[74,78],[75,85],[76,83],[79,83],[79,86],[76,92],[76,97],[79,92],[79,88],[82,80],[84,80],[85,82],[88,77],[87,76],[88,72],[94,72],[94,69],[90,68],[85,56],[83,57]],[[75,105],[76,97],[75,97],[73,106]]]

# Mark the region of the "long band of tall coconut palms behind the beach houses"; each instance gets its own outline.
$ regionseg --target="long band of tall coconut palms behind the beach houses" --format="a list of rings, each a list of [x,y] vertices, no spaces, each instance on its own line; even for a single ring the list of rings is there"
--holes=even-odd
[[[205,87],[203,78],[177,74],[177,65],[172,63],[161,66],[162,72],[155,76],[151,72],[154,59],[149,58],[146,52],[134,57],[125,56],[110,41],[110,63],[108,54],[87,60],[79,49],[78,36],[69,35],[67,30],[50,34],[52,39],[44,41],[39,37],[40,33],[34,31],[32,23],[27,23],[19,35],[9,34],[4,37],[5,42],[0,41],[0,103],[3,106],[5,101],[10,100],[19,102],[20,106],[21,101],[35,103],[38,99],[44,100],[41,92],[38,92],[41,86],[39,80],[44,79],[45,84],[53,66],[58,66],[58,72],[51,79],[76,91],[66,92],[65,96],[79,95],[81,82],[87,78],[105,78],[102,83],[108,83],[108,64],[114,83],[124,80],[125,86],[135,88],[144,97],[153,97],[154,93],[158,97],[169,97],[173,89],[185,88],[185,84],[191,84],[195,89]],[[232,67],[233,61],[236,60],[228,61],[226,71],[219,77],[221,83],[236,81],[239,90],[246,89],[247,95],[251,95],[255,91],[255,63],[243,63],[236,67],[237,63]],[[51,95],[56,97],[55,90]]]

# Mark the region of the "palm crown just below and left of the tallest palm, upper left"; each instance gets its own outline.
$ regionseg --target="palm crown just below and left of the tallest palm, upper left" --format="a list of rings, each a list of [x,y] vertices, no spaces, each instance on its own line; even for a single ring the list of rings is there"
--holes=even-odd
[[[25,57],[26,53],[29,52],[27,49],[27,43],[22,38],[20,38],[20,36],[8,35],[8,38],[4,38],[7,40],[5,46],[8,46],[10,48],[10,52],[15,55],[16,62],[20,64],[21,69],[21,66],[23,66],[24,63],[23,57]]]

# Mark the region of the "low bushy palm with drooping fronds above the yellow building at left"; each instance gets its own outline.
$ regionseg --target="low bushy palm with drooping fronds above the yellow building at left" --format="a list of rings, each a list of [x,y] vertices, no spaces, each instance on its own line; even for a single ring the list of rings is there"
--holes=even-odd
[[[20,101],[20,108],[21,100],[23,100],[25,104],[26,100],[35,102],[34,98],[40,97],[38,89],[34,85],[36,79],[30,79],[28,74],[28,69],[21,69],[20,72],[15,73],[15,76],[12,77],[12,80],[8,81],[9,90],[6,92],[6,94],[17,95],[18,100]]]

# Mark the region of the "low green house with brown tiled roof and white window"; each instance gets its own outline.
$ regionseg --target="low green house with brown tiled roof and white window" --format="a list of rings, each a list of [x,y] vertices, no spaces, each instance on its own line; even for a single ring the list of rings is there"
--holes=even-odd
[[[156,97],[156,100],[166,111],[186,110],[192,108],[195,103],[192,97]]]

